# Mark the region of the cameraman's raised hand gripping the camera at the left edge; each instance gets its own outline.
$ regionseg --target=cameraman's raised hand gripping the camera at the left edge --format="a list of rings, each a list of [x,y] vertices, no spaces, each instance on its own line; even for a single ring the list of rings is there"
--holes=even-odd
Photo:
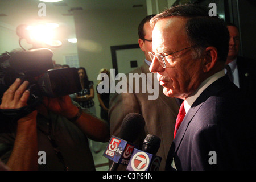
[[[15,82],[3,94],[0,109],[18,109],[27,106],[30,92],[27,89],[28,81],[21,83],[17,78]]]

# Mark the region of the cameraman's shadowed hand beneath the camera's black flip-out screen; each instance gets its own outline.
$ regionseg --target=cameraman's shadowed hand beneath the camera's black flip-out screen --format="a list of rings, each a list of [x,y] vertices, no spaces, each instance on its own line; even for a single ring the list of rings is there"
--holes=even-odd
[[[79,110],[75,105],[73,105],[69,96],[62,96],[58,98],[44,97],[43,104],[47,109],[54,113],[63,115],[66,118],[74,117]]]

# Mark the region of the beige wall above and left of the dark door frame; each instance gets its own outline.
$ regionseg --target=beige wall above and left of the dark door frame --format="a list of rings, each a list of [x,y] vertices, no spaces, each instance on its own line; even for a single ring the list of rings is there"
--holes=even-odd
[[[98,71],[112,68],[110,46],[137,44],[138,25],[146,15],[146,9],[75,12],[79,62],[94,82],[95,93]],[[94,102],[99,116],[97,94]]]

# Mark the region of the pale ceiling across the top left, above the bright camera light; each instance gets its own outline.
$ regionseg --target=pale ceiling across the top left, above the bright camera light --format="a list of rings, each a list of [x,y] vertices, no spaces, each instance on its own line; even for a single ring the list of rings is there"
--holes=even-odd
[[[46,5],[46,16],[39,17],[39,0],[0,0],[0,26],[16,30],[19,24],[35,22],[59,23],[63,38],[75,36],[72,9],[146,9],[146,0],[63,0],[56,3],[43,2]],[[111,11],[110,11],[111,12]],[[0,32],[1,33],[1,32]]]

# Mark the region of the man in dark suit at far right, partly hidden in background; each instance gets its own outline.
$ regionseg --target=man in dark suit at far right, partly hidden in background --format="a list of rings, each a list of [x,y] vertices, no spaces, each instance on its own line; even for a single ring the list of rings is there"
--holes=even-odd
[[[229,52],[226,59],[226,64],[229,65],[232,73],[232,81],[241,89],[242,93],[247,98],[251,98],[250,105],[254,105],[254,94],[256,92],[256,60],[238,56],[240,48],[240,34],[238,28],[227,23],[229,30]]]

